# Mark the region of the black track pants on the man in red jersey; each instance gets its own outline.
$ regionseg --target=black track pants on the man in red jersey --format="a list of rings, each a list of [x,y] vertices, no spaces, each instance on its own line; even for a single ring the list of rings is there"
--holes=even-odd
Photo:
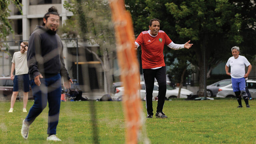
[[[154,89],[155,78],[158,82],[158,102],[156,112],[162,112],[166,94],[166,68],[143,69],[144,82],[146,87],[146,108],[149,115],[153,115],[152,93]]]

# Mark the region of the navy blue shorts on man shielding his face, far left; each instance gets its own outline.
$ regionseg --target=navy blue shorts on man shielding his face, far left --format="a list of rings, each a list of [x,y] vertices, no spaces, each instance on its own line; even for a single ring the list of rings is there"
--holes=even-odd
[[[13,79],[13,91],[23,90],[29,92],[29,76],[28,74],[15,75]]]

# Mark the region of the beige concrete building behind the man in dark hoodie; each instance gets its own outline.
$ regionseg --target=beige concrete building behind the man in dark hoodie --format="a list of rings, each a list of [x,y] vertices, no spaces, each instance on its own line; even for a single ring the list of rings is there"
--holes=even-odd
[[[10,75],[13,53],[19,51],[20,41],[27,41],[29,39],[29,36],[34,31],[36,25],[42,25],[43,17],[48,11],[48,8],[55,6],[58,9],[60,13],[60,27],[64,24],[65,20],[73,16],[72,12],[64,8],[64,1],[65,0],[19,0],[23,5],[21,7],[22,15],[13,4],[9,5],[8,8],[11,10],[11,13],[8,19],[12,20],[11,25],[14,30],[14,35],[10,34],[7,37],[8,42],[6,42],[6,44],[9,46],[8,50],[0,52],[0,76]],[[92,51],[97,51],[99,50],[99,45],[78,41],[78,47],[76,40],[63,40],[62,42],[64,45],[64,62],[70,77],[72,79],[80,79],[81,81],[79,81],[79,83],[83,85],[83,81],[87,75],[85,76],[82,70],[85,69],[85,67],[90,67],[89,71],[93,73],[93,76],[90,75],[90,78],[95,78],[94,84],[96,89],[102,89],[104,87],[104,82],[101,64],[94,63],[93,66],[90,64],[88,66],[88,63],[86,62],[96,60],[91,53],[88,53],[85,48],[82,48],[87,47]],[[76,62],[78,62],[78,64]],[[86,64],[84,64],[84,62]]]

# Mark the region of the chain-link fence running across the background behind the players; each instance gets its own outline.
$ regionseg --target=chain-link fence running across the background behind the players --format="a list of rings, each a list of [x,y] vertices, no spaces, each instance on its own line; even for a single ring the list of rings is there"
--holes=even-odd
[[[256,92],[256,81],[254,81],[256,79],[256,50],[254,49],[256,43],[255,41],[252,41],[252,37],[255,38],[256,34],[244,34],[243,42],[237,46],[240,47],[240,55],[245,56],[252,64],[252,70],[248,77],[249,80],[247,81],[247,85],[253,95]],[[228,40],[228,38],[226,40]],[[197,53],[195,53],[196,51],[189,51],[188,54],[183,50],[164,51],[169,84],[173,86],[175,85],[176,88],[178,88],[180,86],[181,77],[183,77],[183,88],[186,88],[195,94],[198,94],[199,89],[202,89],[203,87],[203,89],[205,89],[205,96],[214,97],[219,91],[222,91],[222,93],[225,94],[219,96],[234,97],[235,94],[231,91],[231,85],[229,85],[230,91],[228,92],[219,90],[220,87],[227,86],[231,83],[231,77],[226,75],[225,65],[228,58],[232,57],[231,48],[233,46],[227,46],[227,44],[225,44],[226,40],[216,42],[218,44],[216,44],[216,48],[214,50],[208,48],[208,45],[212,43],[203,43],[203,49],[198,48],[200,50],[198,53],[200,53],[199,57],[201,57],[201,61],[193,62],[193,59],[198,57]],[[111,41],[113,42],[111,43]],[[0,52],[1,101],[11,99],[13,88],[13,82],[10,80],[11,61],[14,52],[20,50],[21,42],[22,41],[0,42],[0,44],[4,46]],[[100,97],[109,91],[112,93],[115,92],[115,90],[113,91],[111,88],[113,88],[113,82],[120,81],[120,72],[116,58],[114,38],[108,38],[105,40],[99,38],[89,40],[74,38],[62,39],[62,42],[64,62],[69,76],[75,82],[75,89],[82,91],[83,95],[92,90],[93,93],[101,93],[98,94]],[[197,45],[197,43],[194,43],[191,49],[197,49]],[[174,55],[179,55],[178,52],[180,52],[181,55],[194,55],[192,59],[188,59],[187,63],[189,64],[186,67],[184,75],[181,75],[184,69],[182,69],[181,65],[177,64],[179,61],[174,60],[173,63],[170,63],[171,59],[175,57]],[[138,61],[140,63],[141,77],[143,77],[141,48],[138,49]],[[245,71],[247,72],[247,67]],[[21,92],[19,97],[23,97]],[[29,94],[29,97],[33,98],[32,93]]]

